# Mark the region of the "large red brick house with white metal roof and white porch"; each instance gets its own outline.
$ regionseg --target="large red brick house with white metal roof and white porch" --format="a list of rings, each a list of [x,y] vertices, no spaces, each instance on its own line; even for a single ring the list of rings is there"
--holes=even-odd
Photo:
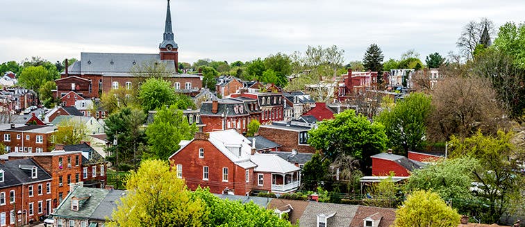
[[[277,155],[256,153],[249,143],[234,130],[197,133],[194,140],[181,142],[169,160],[192,190],[199,185],[212,193],[237,195],[297,190],[299,167]]]

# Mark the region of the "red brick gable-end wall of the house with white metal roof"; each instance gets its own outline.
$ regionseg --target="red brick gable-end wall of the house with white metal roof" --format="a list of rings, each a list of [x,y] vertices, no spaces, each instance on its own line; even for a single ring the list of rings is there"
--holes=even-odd
[[[200,148],[204,149],[204,158],[199,158]],[[183,165],[182,175],[191,190],[195,190],[198,185],[210,187],[212,193],[222,193],[226,187],[238,195],[244,195],[251,190],[251,183],[246,183],[244,178],[245,169],[233,164],[208,140],[192,141],[170,158],[170,161],[172,161],[174,169],[178,164]],[[209,180],[202,180],[204,166],[209,168]],[[228,182],[222,181],[223,167],[228,168]],[[253,170],[251,170],[250,176],[253,177]]]

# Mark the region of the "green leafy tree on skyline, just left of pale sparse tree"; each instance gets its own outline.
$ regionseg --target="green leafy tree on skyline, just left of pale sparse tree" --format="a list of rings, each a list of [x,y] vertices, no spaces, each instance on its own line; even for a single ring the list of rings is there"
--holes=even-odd
[[[292,60],[284,53],[276,53],[275,55],[269,55],[265,58],[265,68],[271,69],[276,73],[277,80],[274,84],[279,87],[284,87],[288,84],[288,78],[286,76],[292,73]],[[263,74],[263,77],[264,74]]]

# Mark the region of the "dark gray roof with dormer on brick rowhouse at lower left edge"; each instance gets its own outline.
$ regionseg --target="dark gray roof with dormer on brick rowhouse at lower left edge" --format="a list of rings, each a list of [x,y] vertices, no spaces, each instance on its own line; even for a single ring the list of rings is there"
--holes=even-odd
[[[37,167],[37,178],[31,178],[31,168]],[[0,163],[0,169],[4,171],[3,182],[0,183],[0,188],[12,187],[23,183],[32,183],[42,180],[51,180],[51,176],[44,171],[31,158],[8,160]]]

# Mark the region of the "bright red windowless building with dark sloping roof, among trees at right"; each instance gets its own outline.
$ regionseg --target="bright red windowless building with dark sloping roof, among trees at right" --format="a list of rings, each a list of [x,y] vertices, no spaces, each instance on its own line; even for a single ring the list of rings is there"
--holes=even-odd
[[[393,172],[394,176],[410,176],[410,171],[422,169],[421,162],[390,152],[378,153],[370,158],[372,158],[373,176],[389,176],[390,172]]]

